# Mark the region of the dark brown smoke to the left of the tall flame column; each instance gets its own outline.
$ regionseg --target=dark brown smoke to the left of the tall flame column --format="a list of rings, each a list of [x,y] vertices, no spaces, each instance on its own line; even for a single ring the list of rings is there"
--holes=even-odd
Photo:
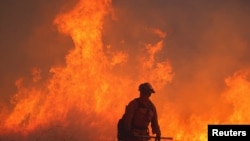
[[[31,69],[41,68],[48,76],[53,65],[64,64],[64,56],[73,47],[72,40],[58,33],[55,15],[68,11],[76,1],[1,1],[0,15],[0,97],[8,104],[15,93],[15,80],[30,77]],[[45,78],[46,79],[46,78]]]

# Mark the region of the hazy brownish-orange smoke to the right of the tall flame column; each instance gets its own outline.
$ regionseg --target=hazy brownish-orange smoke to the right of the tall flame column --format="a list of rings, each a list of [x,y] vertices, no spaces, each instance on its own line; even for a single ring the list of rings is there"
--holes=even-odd
[[[211,106],[225,88],[224,79],[249,67],[246,1],[114,0],[113,6],[113,21],[104,28],[110,30],[105,32],[109,44],[136,54],[142,43],[160,40],[150,28],[166,33],[157,59],[168,58],[174,69],[164,93],[176,105],[192,111],[204,102]]]

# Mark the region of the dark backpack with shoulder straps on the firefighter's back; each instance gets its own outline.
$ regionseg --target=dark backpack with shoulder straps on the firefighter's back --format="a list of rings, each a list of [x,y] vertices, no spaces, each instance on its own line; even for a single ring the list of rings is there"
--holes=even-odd
[[[135,101],[137,102],[137,105],[138,105],[137,108],[140,108],[140,103],[138,101],[138,98],[136,98]],[[151,103],[151,101],[150,101],[150,103]],[[151,108],[152,107],[153,107],[153,104],[151,103]],[[126,108],[127,108],[127,106],[126,106]],[[153,110],[153,108],[152,108],[152,110]],[[126,112],[126,110],[125,110],[125,112]],[[117,123],[117,139],[118,139],[118,141],[123,141],[128,136],[127,135],[128,133],[126,132],[125,125],[124,125],[124,120],[123,120],[124,119],[124,115],[125,115],[125,113],[118,120],[118,123]]]

